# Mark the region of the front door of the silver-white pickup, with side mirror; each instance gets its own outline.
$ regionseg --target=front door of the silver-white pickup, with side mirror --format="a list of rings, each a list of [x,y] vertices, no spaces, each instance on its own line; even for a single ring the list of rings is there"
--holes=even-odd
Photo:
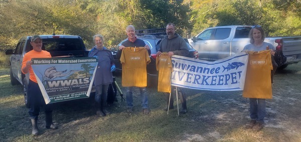
[[[199,59],[210,60],[210,38],[214,29],[207,29],[196,37],[191,45],[199,52]]]

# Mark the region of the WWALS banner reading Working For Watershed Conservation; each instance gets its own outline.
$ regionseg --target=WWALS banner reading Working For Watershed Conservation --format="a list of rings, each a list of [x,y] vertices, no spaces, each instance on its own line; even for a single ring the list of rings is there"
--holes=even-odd
[[[95,57],[32,58],[32,62],[46,104],[90,96]]]

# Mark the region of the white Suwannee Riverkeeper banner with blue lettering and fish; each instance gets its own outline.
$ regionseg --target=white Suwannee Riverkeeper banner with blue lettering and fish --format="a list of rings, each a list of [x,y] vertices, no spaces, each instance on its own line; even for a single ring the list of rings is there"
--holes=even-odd
[[[206,61],[179,55],[172,56],[172,85],[204,90],[243,90],[248,54]]]

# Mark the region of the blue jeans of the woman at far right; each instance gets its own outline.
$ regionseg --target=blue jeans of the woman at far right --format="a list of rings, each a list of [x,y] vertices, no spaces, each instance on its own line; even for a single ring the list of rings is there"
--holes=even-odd
[[[250,98],[250,117],[252,120],[264,122],[265,98]]]

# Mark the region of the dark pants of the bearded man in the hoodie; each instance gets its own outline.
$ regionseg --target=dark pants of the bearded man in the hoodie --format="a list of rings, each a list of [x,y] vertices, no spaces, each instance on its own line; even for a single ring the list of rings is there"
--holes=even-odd
[[[176,94],[176,87],[172,86],[172,95],[171,95],[171,101],[170,101],[170,108],[174,108],[174,94]],[[180,100],[181,100],[181,103],[182,103],[182,108],[187,109],[186,92],[184,91],[183,88],[178,87],[178,94],[180,94]],[[166,95],[166,102],[167,102],[167,105],[168,105],[170,93],[165,93],[165,95]]]

